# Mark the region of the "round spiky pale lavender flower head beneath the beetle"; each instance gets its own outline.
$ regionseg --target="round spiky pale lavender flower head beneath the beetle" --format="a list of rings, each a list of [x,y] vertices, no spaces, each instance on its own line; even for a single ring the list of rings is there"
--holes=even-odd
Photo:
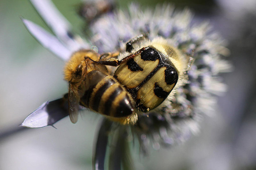
[[[195,23],[191,11],[176,11],[169,4],[158,5],[154,10],[131,4],[128,11],[117,10],[102,16],[91,25],[91,30],[92,43],[100,53],[124,50],[129,39],[142,33],[148,34],[151,40],[168,39],[187,55],[194,50],[186,84],[177,89],[160,110],[139,115],[131,129],[143,153],[148,153],[151,144],[158,149],[161,145],[180,143],[191,132],[199,131],[201,115],[211,113],[216,95],[226,90],[219,73],[231,68],[224,57],[228,54],[225,40],[212,31],[208,23]]]

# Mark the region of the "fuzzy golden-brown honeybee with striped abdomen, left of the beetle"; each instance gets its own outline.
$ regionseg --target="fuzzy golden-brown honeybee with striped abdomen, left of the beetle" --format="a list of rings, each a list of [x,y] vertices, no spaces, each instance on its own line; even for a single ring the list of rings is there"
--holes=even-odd
[[[115,54],[109,54],[111,56]],[[104,57],[103,57],[104,56]],[[92,50],[74,53],[64,68],[69,82],[68,112],[71,122],[76,123],[79,105],[98,112],[121,124],[135,123],[137,114],[130,93],[111,75],[105,65],[94,60],[100,57]]]

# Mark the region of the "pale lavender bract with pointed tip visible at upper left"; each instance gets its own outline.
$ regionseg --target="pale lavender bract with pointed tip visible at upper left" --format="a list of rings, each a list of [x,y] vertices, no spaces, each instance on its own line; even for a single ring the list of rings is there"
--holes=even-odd
[[[64,46],[55,36],[45,31],[39,25],[36,25],[27,19],[21,19],[28,31],[32,34],[33,37],[35,37],[36,40],[39,41],[42,46],[50,50],[55,55],[59,56],[62,60],[69,59],[73,52]]]

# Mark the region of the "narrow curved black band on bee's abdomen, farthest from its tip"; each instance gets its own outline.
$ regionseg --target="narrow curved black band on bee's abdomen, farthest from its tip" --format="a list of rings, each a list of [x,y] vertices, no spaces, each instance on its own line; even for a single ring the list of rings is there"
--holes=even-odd
[[[93,98],[93,103],[92,103],[92,109],[95,111],[99,110],[99,104],[100,104],[100,99],[103,93],[114,83],[116,83],[113,79],[108,79],[96,92],[94,98]]]

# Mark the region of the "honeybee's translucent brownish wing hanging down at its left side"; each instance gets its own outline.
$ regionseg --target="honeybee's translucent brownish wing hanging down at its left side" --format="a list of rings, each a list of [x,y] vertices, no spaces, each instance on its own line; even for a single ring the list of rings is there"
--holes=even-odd
[[[78,119],[80,95],[78,92],[69,84],[68,91],[68,113],[72,123],[76,123]]]

